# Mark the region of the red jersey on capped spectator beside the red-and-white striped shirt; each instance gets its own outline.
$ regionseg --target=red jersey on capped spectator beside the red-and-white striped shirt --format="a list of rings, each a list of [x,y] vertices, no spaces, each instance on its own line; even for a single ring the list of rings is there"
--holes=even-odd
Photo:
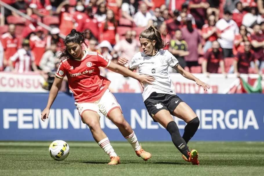
[[[30,37],[29,44],[32,49],[32,53],[35,57],[35,63],[37,66],[39,66],[41,57],[46,50],[46,40],[40,39],[38,36],[35,35],[33,37]]]

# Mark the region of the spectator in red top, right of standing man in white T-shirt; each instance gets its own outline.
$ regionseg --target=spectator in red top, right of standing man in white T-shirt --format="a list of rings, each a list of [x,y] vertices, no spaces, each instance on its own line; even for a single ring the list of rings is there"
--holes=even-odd
[[[236,55],[238,51],[243,52],[245,48],[245,42],[250,40],[250,34],[247,32],[246,26],[241,25],[239,34],[235,35],[233,54]]]

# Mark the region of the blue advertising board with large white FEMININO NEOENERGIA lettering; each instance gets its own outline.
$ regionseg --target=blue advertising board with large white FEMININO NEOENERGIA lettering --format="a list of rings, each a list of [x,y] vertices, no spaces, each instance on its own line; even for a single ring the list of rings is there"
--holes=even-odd
[[[45,122],[41,121],[40,114],[46,106],[48,93],[1,92],[0,95],[0,140],[93,141],[71,94],[58,94]],[[200,127],[193,140],[264,140],[263,94],[179,96],[200,118]],[[171,140],[167,131],[148,115],[141,94],[115,93],[115,97],[140,141]],[[100,121],[110,140],[124,140],[110,120],[101,116]],[[175,121],[183,134],[185,122],[176,117]]]

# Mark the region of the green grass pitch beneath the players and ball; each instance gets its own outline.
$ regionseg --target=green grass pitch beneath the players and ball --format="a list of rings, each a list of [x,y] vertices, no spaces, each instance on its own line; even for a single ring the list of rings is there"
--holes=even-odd
[[[152,154],[144,162],[127,142],[111,142],[121,164],[108,166],[109,157],[95,142],[68,142],[70,154],[53,160],[50,142],[0,142],[0,175],[263,175],[264,142],[189,142],[199,152],[200,166],[185,162],[172,142],[142,142]]]

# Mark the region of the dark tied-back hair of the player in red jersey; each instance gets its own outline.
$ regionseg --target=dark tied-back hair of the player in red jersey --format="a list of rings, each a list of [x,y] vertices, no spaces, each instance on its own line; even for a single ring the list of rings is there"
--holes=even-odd
[[[90,31],[88,31],[90,32]],[[84,45],[86,45],[86,47],[88,48],[87,44],[85,43],[85,35],[87,32],[79,32],[76,31],[75,29],[72,29],[70,31],[70,34],[68,34],[64,40],[64,44],[66,45],[67,43],[77,43],[79,45],[81,45],[81,42],[84,43]],[[81,46],[82,47],[82,46]],[[63,48],[61,55],[59,56],[59,59],[68,59],[71,58],[70,53],[68,53],[67,48]]]

